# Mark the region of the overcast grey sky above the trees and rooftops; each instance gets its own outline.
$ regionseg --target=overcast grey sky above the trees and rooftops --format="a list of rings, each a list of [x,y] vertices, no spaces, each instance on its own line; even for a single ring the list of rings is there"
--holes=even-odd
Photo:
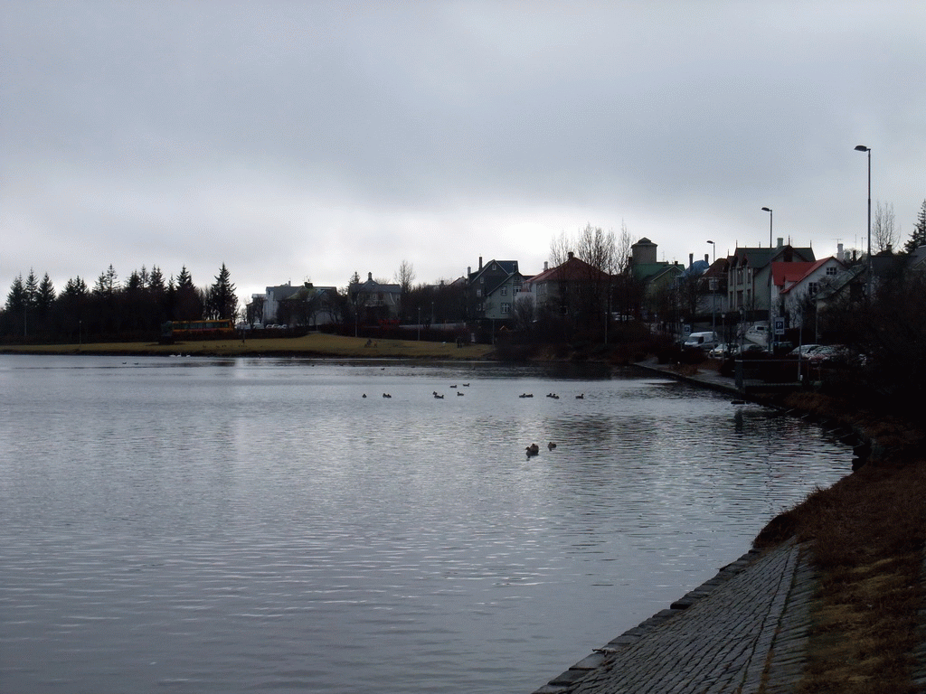
[[[867,244],[857,144],[904,242],[920,0],[0,0],[0,298],[109,265],[224,263],[240,299],[531,275],[588,224],[685,265],[770,223],[823,257]]]

